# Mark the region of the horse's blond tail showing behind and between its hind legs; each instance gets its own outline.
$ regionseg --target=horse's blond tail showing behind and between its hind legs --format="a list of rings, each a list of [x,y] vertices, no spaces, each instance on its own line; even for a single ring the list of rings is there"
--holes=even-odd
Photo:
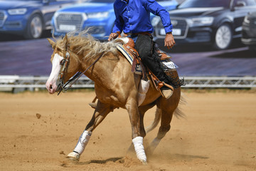
[[[180,105],[186,105],[186,98],[184,97],[183,93],[181,93],[181,98],[178,103],[178,107],[174,110],[174,115],[176,116],[176,118],[186,118],[185,113],[183,113],[183,111],[180,109]],[[156,128],[156,126],[159,124],[160,118],[161,118],[161,109],[156,108],[155,118],[151,123],[151,125],[149,125],[146,128],[146,133],[149,133],[151,130],[154,130],[154,128]]]

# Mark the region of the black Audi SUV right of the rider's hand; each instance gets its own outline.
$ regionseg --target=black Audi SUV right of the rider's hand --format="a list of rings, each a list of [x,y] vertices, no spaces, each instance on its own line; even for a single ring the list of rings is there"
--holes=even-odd
[[[255,0],[186,0],[169,11],[176,44],[203,43],[216,49],[230,47],[241,38],[242,21],[249,11],[256,11]],[[155,19],[156,21],[157,19]],[[163,41],[161,22],[155,24],[156,42]]]

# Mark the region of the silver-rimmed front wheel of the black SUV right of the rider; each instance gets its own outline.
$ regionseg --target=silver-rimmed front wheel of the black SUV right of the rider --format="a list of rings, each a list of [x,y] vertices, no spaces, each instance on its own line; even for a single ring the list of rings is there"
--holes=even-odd
[[[233,33],[228,24],[221,25],[215,34],[214,47],[218,50],[229,48],[232,42]]]

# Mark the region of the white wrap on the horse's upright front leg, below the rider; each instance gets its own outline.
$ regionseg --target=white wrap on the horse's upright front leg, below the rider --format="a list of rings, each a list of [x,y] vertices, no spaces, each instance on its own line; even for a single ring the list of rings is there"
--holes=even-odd
[[[134,148],[137,154],[137,158],[142,162],[146,162],[146,154],[143,146],[143,137],[137,137],[132,139],[134,143]]]

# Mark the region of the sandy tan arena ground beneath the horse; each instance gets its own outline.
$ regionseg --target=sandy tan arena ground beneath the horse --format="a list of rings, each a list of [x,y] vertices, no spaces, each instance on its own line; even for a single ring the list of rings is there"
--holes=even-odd
[[[256,170],[255,90],[185,94],[186,118],[174,117],[148,165],[142,165],[135,153],[127,154],[132,131],[124,109],[114,110],[92,133],[80,162],[65,158],[92,116],[87,104],[93,91],[0,93],[0,170]],[[145,147],[158,128],[146,135]]]

